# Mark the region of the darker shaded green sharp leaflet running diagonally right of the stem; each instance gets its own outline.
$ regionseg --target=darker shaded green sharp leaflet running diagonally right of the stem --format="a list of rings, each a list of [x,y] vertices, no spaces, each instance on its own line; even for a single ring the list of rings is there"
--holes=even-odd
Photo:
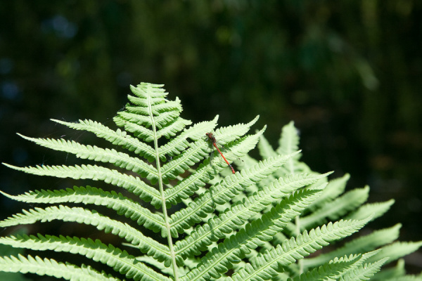
[[[241,231],[213,248],[201,259],[198,268],[193,269],[182,280],[210,280],[220,277],[231,267],[231,263],[241,261],[251,249],[271,240],[273,235],[281,231],[288,221],[298,216],[317,195],[316,190],[299,190],[281,201],[281,204],[264,214],[262,219],[248,223]]]

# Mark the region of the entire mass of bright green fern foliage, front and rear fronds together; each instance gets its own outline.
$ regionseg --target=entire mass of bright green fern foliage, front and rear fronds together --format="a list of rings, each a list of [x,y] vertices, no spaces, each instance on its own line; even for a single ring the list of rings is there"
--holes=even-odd
[[[143,83],[131,89],[134,96],[128,98],[132,104],[114,117],[115,124],[123,129],[113,130],[91,120],[53,120],[94,133],[124,152],[20,135],[46,148],[100,164],[5,164],[28,174],[108,183],[116,190],[87,185],[34,190],[23,195],[1,192],[22,202],[51,204],[6,218],[0,222],[1,227],[53,220],[85,223],[118,235],[125,243],[117,247],[91,238],[38,234],[0,237],[0,244],[79,254],[119,274],[96,270],[92,267],[96,263],[76,265],[20,254],[0,257],[0,270],[65,280],[120,280],[122,275],[125,280],[378,280],[404,275],[399,266],[388,269],[385,275],[382,271],[374,275],[387,260],[378,248],[396,239],[399,226],[304,259],[357,232],[381,216],[392,202],[363,205],[368,188],[343,194],[347,176],[328,182],[329,173],[311,171],[299,161],[293,123],[284,127],[279,149],[272,150],[262,136],[265,128],[245,135],[257,118],[248,124],[218,129],[217,117],[190,126],[190,121],[179,116],[179,99],[167,100],[161,85]],[[236,162],[240,171],[231,174],[224,159],[217,157],[207,139],[210,132],[225,145],[224,155],[229,162],[243,159]],[[258,141],[264,158],[259,162],[247,155]],[[210,153],[215,157],[211,159]],[[117,190],[125,190],[136,200]],[[74,203],[84,207],[72,207]],[[101,214],[96,206],[112,209],[133,223]],[[340,219],[344,216],[345,220]],[[331,220],[339,221],[328,222]],[[146,235],[151,230],[160,239]],[[383,235],[388,238],[380,240]],[[388,255],[398,259],[420,246],[404,244],[387,246]],[[135,248],[136,256],[124,247]]]

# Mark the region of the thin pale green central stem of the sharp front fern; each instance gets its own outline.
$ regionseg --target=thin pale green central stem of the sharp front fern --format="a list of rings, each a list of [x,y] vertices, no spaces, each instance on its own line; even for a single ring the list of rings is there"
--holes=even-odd
[[[150,107],[149,112],[152,112],[151,103],[148,103],[148,107]],[[160,187],[160,195],[161,195],[161,202],[162,202],[162,214],[164,216],[165,228],[167,229],[167,242],[169,244],[170,256],[172,258],[174,281],[178,281],[179,280],[179,273],[178,273],[178,268],[177,268],[177,264],[176,264],[176,254],[174,252],[172,233],[170,232],[169,216],[167,215],[167,208],[166,208],[166,204],[165,204],[165,192],[164,192],[164,185],[162,183],[160,154],[159,154],[159,150],[158,150],[158,136],[157,136],[157,130],[156,130],[156,126],[155,126],[155,119],[154,119],[153,116],[151,116],[151,124],[152,124],[152,129],[153,129],[153,134],[154,134],[155,163],[157,165],[157,171],[158,171],[158,185]]]

